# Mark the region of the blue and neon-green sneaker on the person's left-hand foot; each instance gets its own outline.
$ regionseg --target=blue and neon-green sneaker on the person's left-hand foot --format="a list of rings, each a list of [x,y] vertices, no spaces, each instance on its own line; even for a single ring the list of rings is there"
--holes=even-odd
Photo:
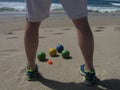
[[[28,81],[35,81],[38,79],[38,76],[39,76],[39,72],[37,65],[34,70],[28,69],[28,67],[26,67],[26,79]]]

